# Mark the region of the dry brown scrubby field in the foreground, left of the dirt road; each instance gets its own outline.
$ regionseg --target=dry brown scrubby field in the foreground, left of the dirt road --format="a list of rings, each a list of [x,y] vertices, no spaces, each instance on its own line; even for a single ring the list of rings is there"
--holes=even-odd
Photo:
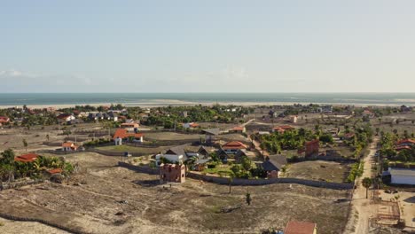
[[[170,189],[156,185],[155,175],[115,167],[113,157],[77,153],[67,160],[82,167],[69,183],[2,191],[2,213],[39,217],[91,233],[258,233],[283,228],[289,220],[317,222],[322,233],[340,233],[347,219],[348,204],[336,202],[347,191],[272,184],[235,186],[228,194],[228,186],[192,179]],[[250,207],[245,204],[247,191],[253,198]],[[237,208],[223,212],[227,207]],[[33,229],[27,222],[0,227],[1,233],[22,230]]]

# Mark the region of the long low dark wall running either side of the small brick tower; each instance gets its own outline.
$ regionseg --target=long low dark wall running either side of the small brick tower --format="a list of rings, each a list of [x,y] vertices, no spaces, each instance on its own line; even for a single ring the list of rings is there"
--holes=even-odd
[[[141,173],[159,174],[158,168],[145,168],[140,166],[134,166],[129,163],[125,162],[118,162],[118,166],[123,168],[129,168],[131,170],[135,170]],[[214,175],[202,175],[198,173],[189,172],[187,176],[192,179],[203,180],[210,183],[219,183],[219,184],[229,184],[228,177],[219,177]],[[277,179],[239,179],[234,178],[231,182],[232,185],[266,185],[271,183],[298,183],[312,187],[318,188],[327,188],[333,190],[350,190],[353,189],[352,183],[330,183],[324,181],[313,181],[313,180],[305,180],[305,179],[298,179],[298,178],[277,178]]]

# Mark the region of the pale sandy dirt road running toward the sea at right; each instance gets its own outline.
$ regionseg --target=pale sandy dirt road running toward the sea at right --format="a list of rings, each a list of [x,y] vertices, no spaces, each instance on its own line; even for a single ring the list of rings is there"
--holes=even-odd
[[[352,205],[358,214],[355,225],[356,228],[354,231],[347,233],[369,233],[369,219],[375,214],[376,207],[370,204],[370,196],[369,199],[366,199],[366,189],[362,186],[362,180],[364,177],[372,177],[372,163],[374,163],[374,154],[376,153],[376,144],[378,144],[378,142],[379,138],[375,137],[370,146],[369,155],[364,158],[364,173],[357,179],[357,188],[353,193],[352,199]]]

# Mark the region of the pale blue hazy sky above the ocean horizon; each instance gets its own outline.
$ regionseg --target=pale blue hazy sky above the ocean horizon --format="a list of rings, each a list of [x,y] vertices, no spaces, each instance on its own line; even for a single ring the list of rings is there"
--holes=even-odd
[[[0,92],[415,92],[414,9],[0,0]]]

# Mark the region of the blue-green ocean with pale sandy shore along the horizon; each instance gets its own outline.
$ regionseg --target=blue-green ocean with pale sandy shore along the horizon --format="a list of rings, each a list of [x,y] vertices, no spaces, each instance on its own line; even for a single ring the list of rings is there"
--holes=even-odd
[[[0,93],[0,105],[415,105],[415,93]]]

